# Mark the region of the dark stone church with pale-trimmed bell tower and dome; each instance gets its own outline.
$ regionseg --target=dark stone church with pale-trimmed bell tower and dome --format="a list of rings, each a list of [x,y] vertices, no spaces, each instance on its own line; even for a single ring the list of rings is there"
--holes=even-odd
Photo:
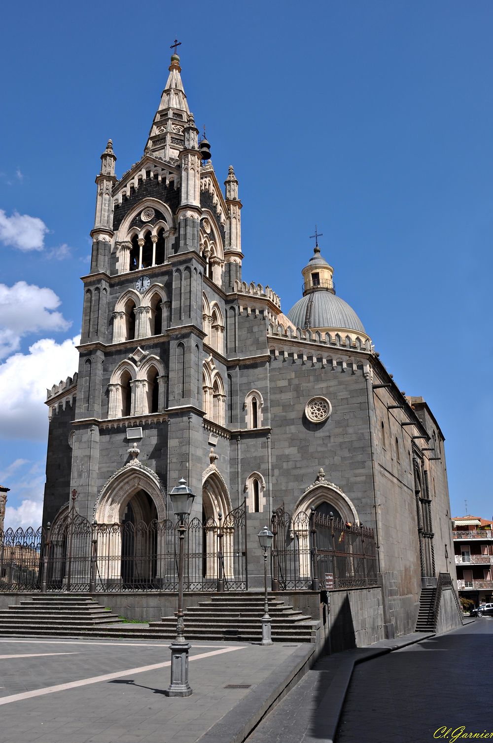
[[[289,311],[244,280],[238,178],[215,172],[180,73],[174,53],[142,157],[118,177],[111,140],[101,155],[79,368],[48,390],[43,527],[71,509],[98,525],[174,522],[184,477],[204,530],[197,588],[216,577],[210,535],[229,518],[241,537],[226,574],[240,556],[238,586],[260,589],[257,534],[281,513],[298,544],[291,588],[311,590],[324,575],[314,583],[296,525],[319,513],[342,539],[373,535],[385,635],[412,632],[422,590],[455,574],[440,425],[386,371],[318,240]]]

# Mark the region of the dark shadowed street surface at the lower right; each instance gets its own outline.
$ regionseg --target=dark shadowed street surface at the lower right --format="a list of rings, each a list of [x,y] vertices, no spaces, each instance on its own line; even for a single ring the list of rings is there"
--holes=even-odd
[[[441,727],[437,736],[492,733],[492,699],[493,619],[483,617],[356,666],[336,743],[428,743]]]

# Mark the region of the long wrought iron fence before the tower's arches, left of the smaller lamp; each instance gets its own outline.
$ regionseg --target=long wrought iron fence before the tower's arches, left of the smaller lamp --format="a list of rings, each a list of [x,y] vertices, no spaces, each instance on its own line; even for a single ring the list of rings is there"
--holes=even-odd
[[[248,588],[246,504],[186,521],[185,591]],[[221,578],[221,582],[220,582]],[[177,523],[97,524],[75,512],[46,531],[0,532],[0,591],[177,591]]]

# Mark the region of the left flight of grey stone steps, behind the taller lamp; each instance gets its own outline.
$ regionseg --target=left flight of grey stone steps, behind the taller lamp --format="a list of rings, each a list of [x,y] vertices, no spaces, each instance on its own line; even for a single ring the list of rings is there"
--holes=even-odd
[[[88,596],[34,594],[0,610],[0,635],[74,637],[120,622],[119,617]]]

